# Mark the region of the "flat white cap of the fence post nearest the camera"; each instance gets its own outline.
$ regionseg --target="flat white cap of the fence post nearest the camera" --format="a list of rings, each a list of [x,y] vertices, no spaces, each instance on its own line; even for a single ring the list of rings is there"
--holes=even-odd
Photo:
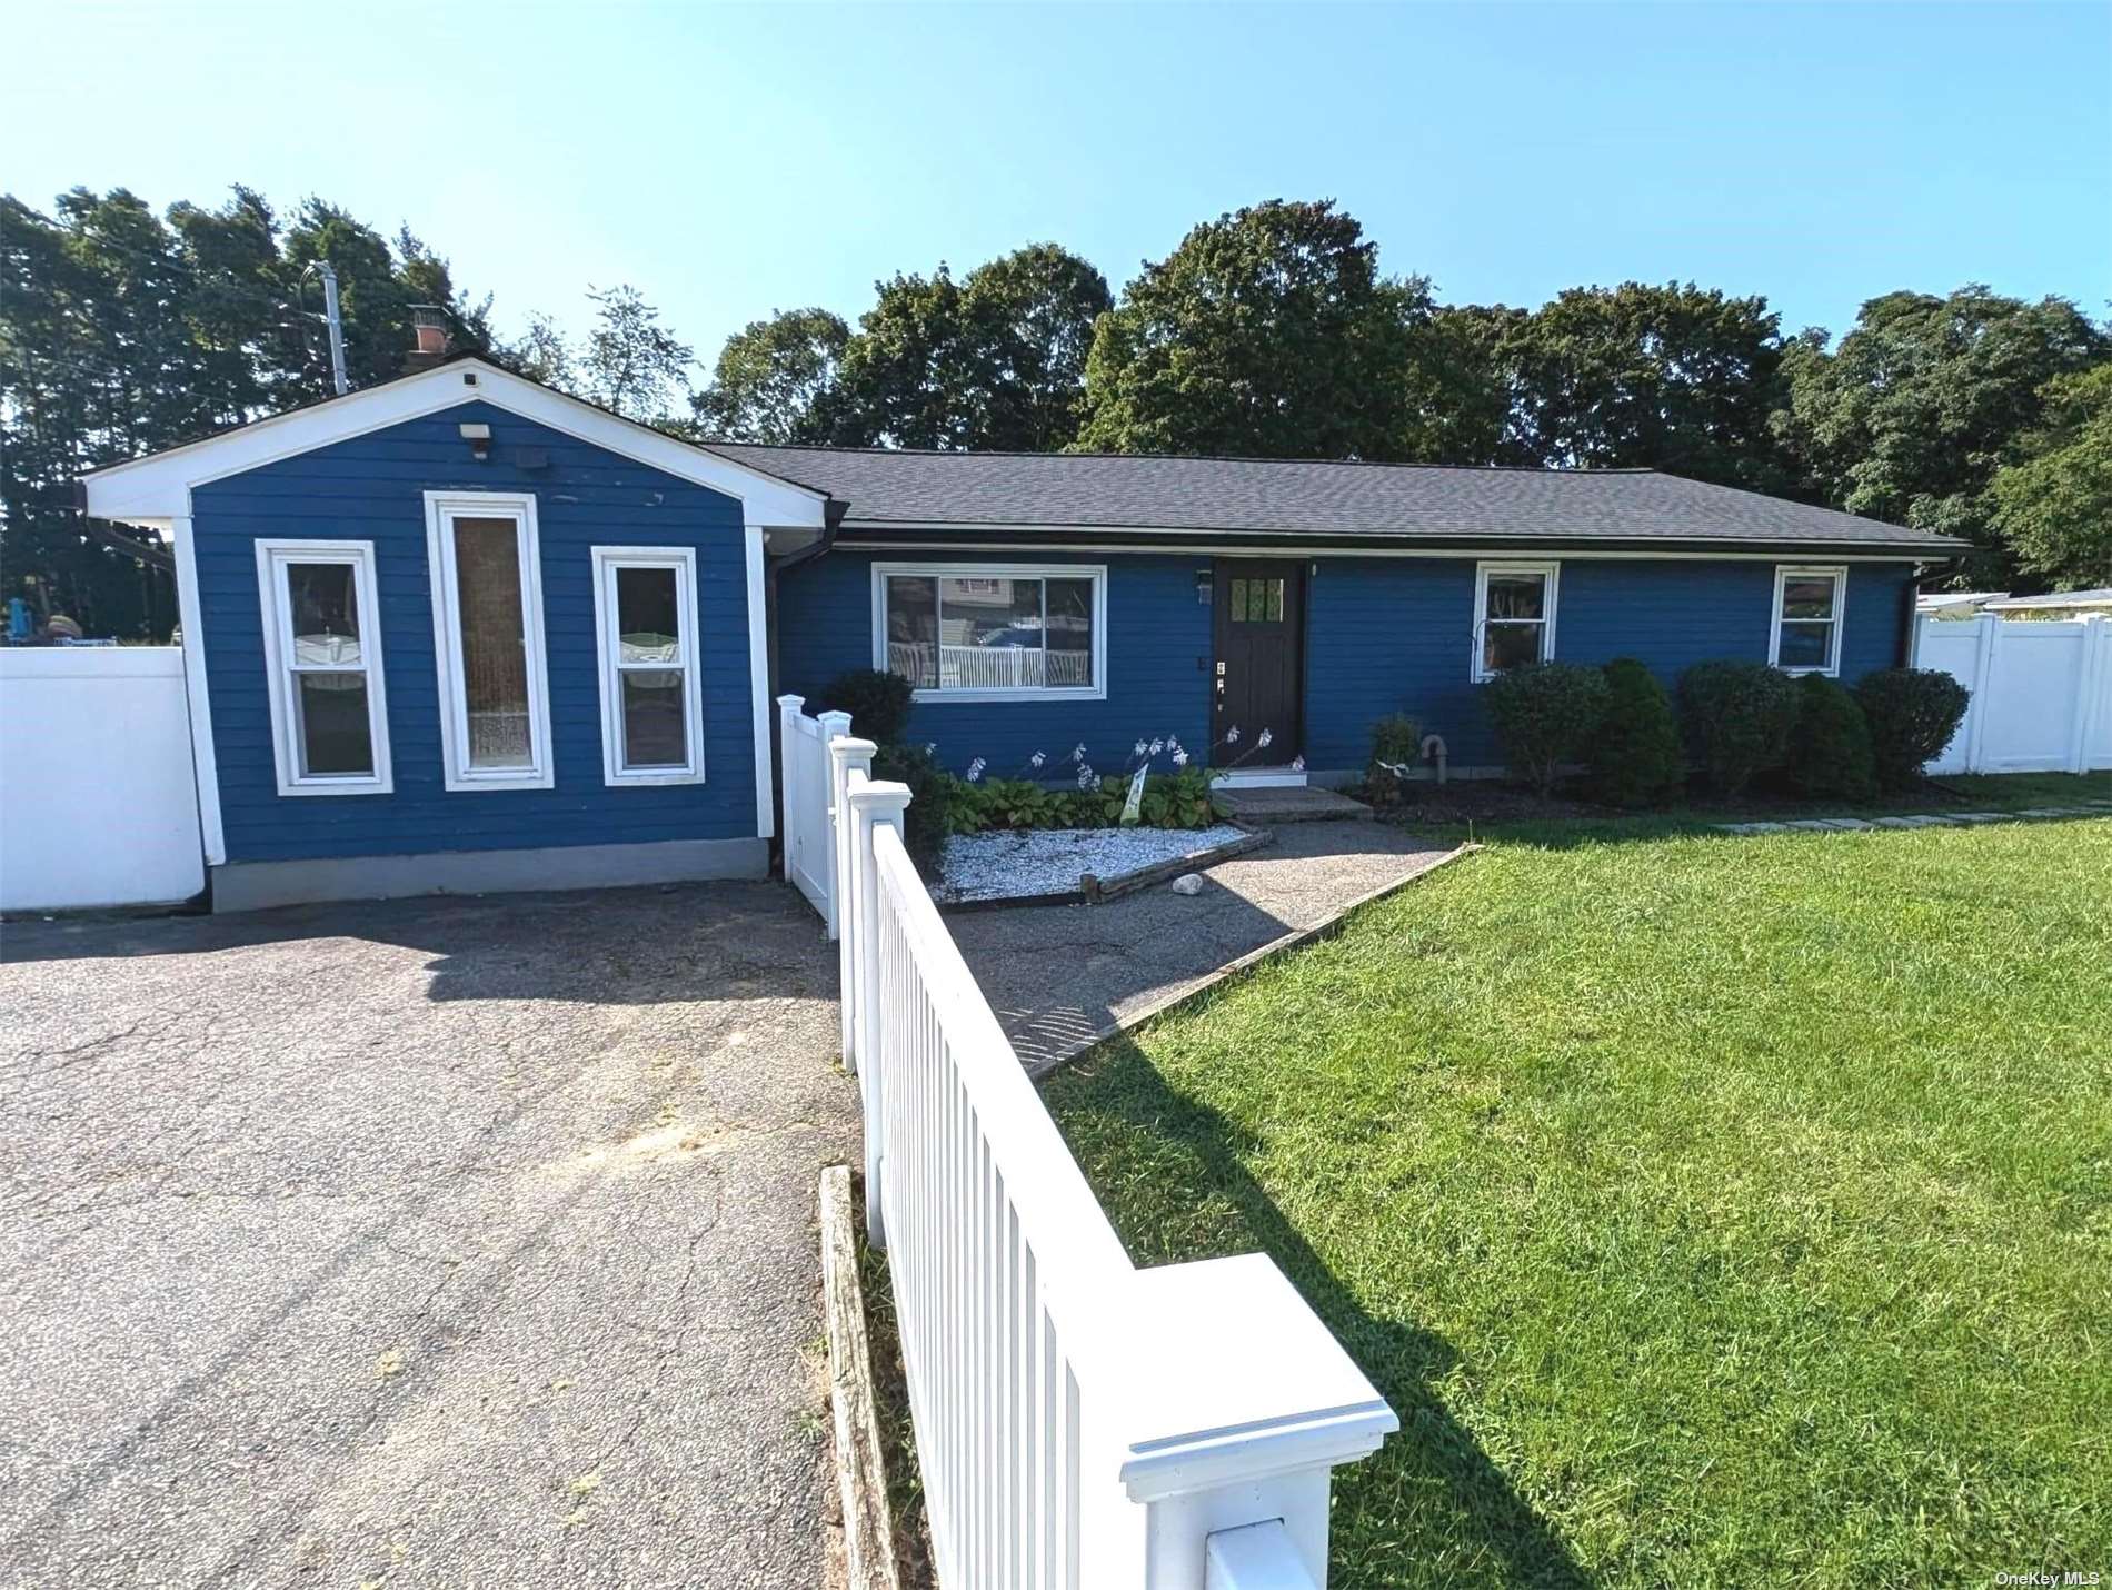
[[[1121,1482],[1132,1501],[1369,1457],[1400,1419],[1267,1254],[1136,1273]]]

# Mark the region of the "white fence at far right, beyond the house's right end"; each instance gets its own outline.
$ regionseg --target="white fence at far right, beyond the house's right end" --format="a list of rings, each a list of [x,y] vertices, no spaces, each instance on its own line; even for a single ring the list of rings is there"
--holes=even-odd
[[[1930,773],[2112,769],[2112,621],[1918,619],[1913,665],[1973,693]]]

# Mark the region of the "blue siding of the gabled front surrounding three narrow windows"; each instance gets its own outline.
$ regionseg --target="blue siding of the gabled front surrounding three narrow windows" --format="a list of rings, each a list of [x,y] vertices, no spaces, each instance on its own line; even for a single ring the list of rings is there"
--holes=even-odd
[[[465,420],[492,427],[492,456],[482,465],[456,433]],[[524,448],[541,448],[547,467],[522,469]],[[429,490],[536,496],[551,790],[444,788],[425,547]],[[490,403],[465,403],[201,486],[192,524],[230,862],[754,836],[748,566],[735,498]],[[260,536],[374,543],[393,794],[277,792],[253,549]],[[703,783],[602,783],[589,557],[589,547],[600,545],[697,549]]]

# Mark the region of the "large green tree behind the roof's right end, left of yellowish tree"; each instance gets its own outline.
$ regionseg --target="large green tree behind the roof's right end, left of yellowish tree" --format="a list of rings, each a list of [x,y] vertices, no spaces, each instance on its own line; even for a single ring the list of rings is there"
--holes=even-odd
[[[1776,424],[1831,503],[1964,536],[1979,549],[1966,579],[2006,585],[2015,557],[1987,484],[2011,441],[2042,422],[2047,384],[2108,355],[2112,338],[2066,298],[1886,294],[1831,353],[1825,334],[1787,351]]]

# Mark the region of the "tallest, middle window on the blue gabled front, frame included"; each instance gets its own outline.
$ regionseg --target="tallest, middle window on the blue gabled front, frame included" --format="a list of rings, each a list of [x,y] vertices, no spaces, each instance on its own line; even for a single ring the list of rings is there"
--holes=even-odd
[[[549,790],[534,496],[427,492],[439,739],[450,790]]]

